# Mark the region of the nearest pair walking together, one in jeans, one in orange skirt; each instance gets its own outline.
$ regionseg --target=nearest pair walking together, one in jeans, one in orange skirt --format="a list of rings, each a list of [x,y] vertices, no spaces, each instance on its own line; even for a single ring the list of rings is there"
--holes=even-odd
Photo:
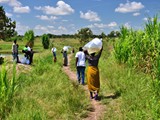
[[[76,53],[76,68],[77,68],[77,79],[78,82],[82,85],[85,84],[85,68],[86,68],[86,60],[88,61],[88,70],[87,70],[87,85],[90,92],[90,98],[98,100],[98,93],[100,89],[100,77],[99,77],[99,69],[98,62],[101,56],[103,47],[96,54],[89,54],[87,50],[83,51],[82,47],[79,47],[79,51]]]

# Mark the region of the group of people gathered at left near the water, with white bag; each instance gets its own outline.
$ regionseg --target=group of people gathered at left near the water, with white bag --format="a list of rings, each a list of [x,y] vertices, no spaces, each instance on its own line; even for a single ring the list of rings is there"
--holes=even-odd
[[[19,60],[18,55],[18,47],[17,41],[14,40],[12,44],[12,55],[13,55],[13,61],[16,63],[22,63],[22,64],[32,64],[33,62],[33,50],[28,45],[25,45],[25,47],[22,50],[22,53],[24,53],[24,58]]]

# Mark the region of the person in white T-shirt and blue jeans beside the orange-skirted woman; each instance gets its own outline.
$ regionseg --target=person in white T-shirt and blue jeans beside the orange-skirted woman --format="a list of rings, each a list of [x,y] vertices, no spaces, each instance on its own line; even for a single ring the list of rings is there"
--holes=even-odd
[[[79,51],[75,55],[76,58],[76,68],[77,68],[77,79],[78,82],[82,85],[84,85],[84,80],[85,80],[85,54],[83,52],[82,47],[79,47]]]

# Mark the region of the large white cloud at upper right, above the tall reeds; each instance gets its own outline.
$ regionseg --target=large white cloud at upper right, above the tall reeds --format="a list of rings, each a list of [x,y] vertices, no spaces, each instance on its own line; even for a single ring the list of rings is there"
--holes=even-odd
[[[144,5],[141,2],[129,2],[126,4],[121,3],[118,8],[115,9],[115,12],[128,13],[136,12],[144,8]]]

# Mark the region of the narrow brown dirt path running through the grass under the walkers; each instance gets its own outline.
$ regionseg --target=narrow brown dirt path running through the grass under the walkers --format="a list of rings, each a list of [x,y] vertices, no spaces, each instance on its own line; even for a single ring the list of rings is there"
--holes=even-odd
[[[77,76],[76,73],[71,71],[70,68],[70,60],[71,55],[68,55],[68,61],[69,65],[67,67],[63,67],[63,71],[69,76],[70,80],[77,82]],[[87,85],[82,86],[86,92],[86,94],[89,96],[88,87]],[[90,98],[90,97],[88,97]],[[89,112],[88,117],[84,118],[84,120],[98,120],[103,118],[103,114],[105,112],[105,106],[101,104],[100,101],[90,100],[92,105],[92,110]]]

